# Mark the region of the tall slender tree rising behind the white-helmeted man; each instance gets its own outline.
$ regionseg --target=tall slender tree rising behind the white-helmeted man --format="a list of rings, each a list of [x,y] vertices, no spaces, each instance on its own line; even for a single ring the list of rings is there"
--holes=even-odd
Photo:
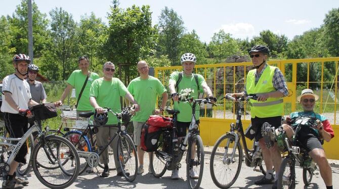
[[[161,10],[158,24],[160,53],[168,55],[172,66],[179,65],[179,45],[185,31],[184,21],[173,9],[165,7]]]

